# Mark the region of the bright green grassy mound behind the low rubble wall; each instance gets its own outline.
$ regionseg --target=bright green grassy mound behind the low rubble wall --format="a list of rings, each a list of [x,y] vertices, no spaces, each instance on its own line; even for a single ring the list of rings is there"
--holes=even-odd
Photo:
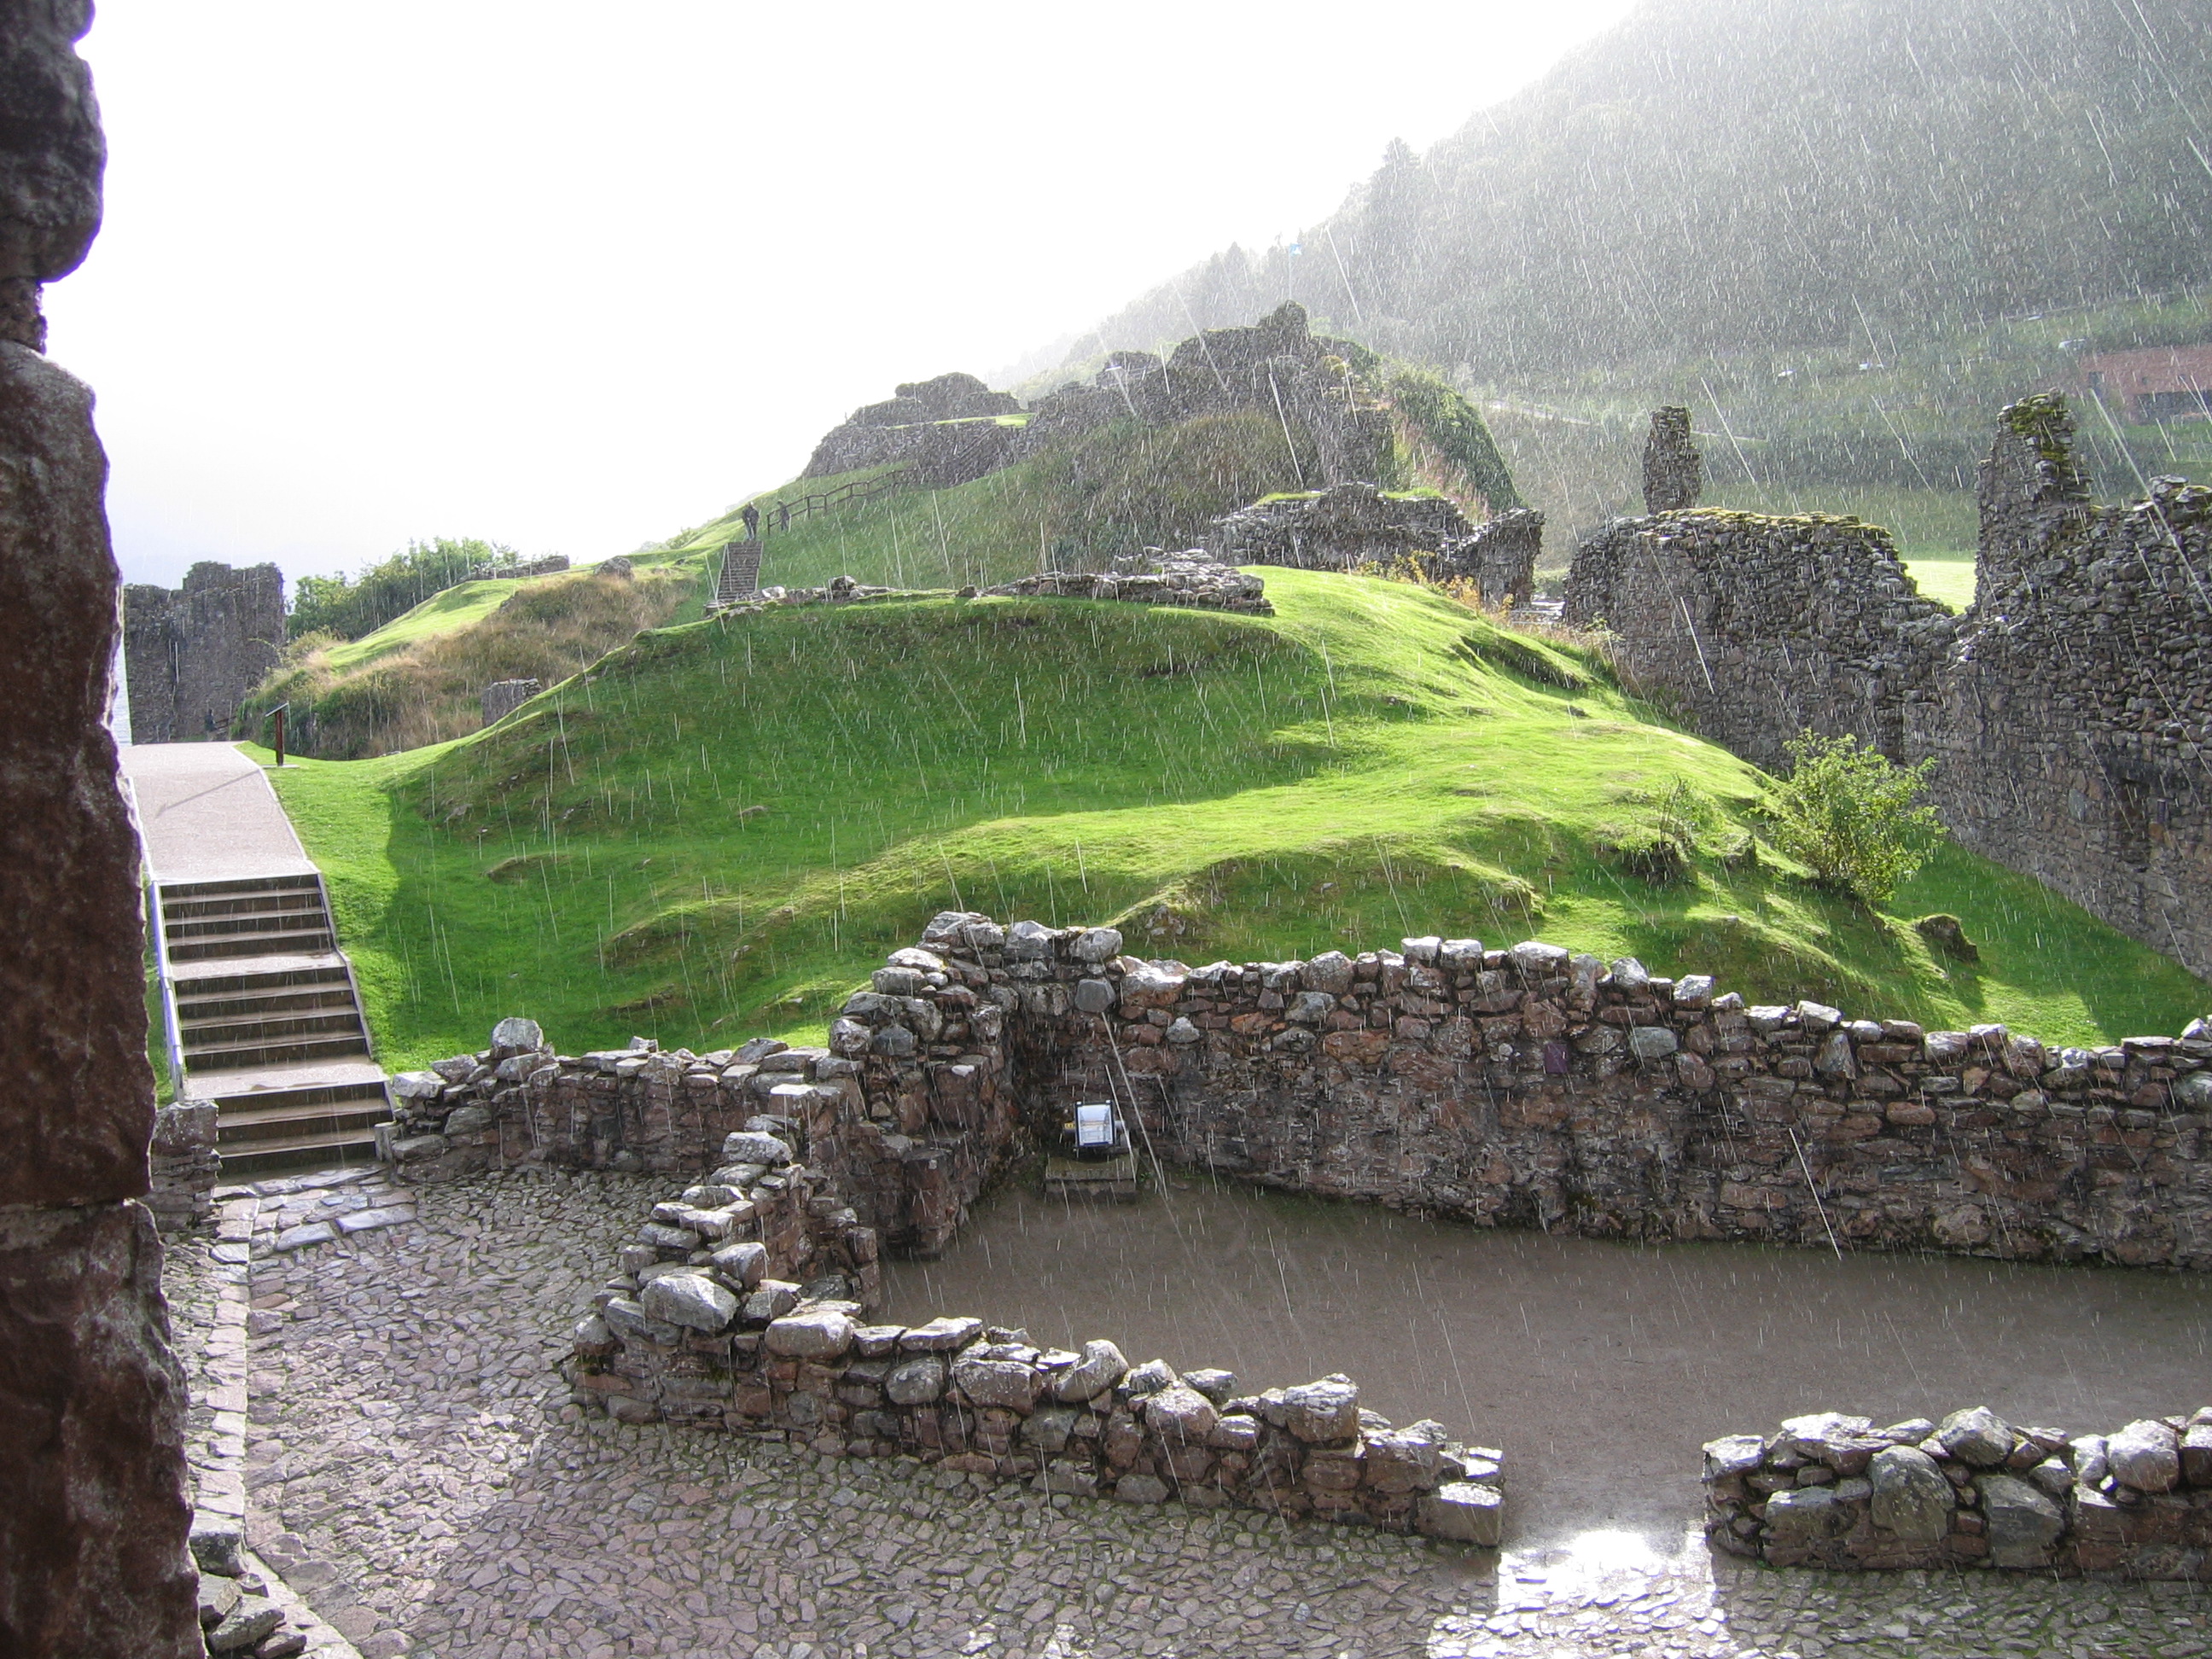
[[[945,907],[1188,962],[1544,936],[2075,1042],[2212,1006],[1955,849],[1893,916],[1816,894],[1752,852],[1756,774],[1590,657],[1422,588],[1265,575],[1272,619],[925,597],[646,633],[489,732],[276,787],[387,1064],[504,1013],[566,1051],[818,1033]],[[1688,865],[1655,880],[1666,841]],[[1982,960],[1931,956],[1927,911]]]

